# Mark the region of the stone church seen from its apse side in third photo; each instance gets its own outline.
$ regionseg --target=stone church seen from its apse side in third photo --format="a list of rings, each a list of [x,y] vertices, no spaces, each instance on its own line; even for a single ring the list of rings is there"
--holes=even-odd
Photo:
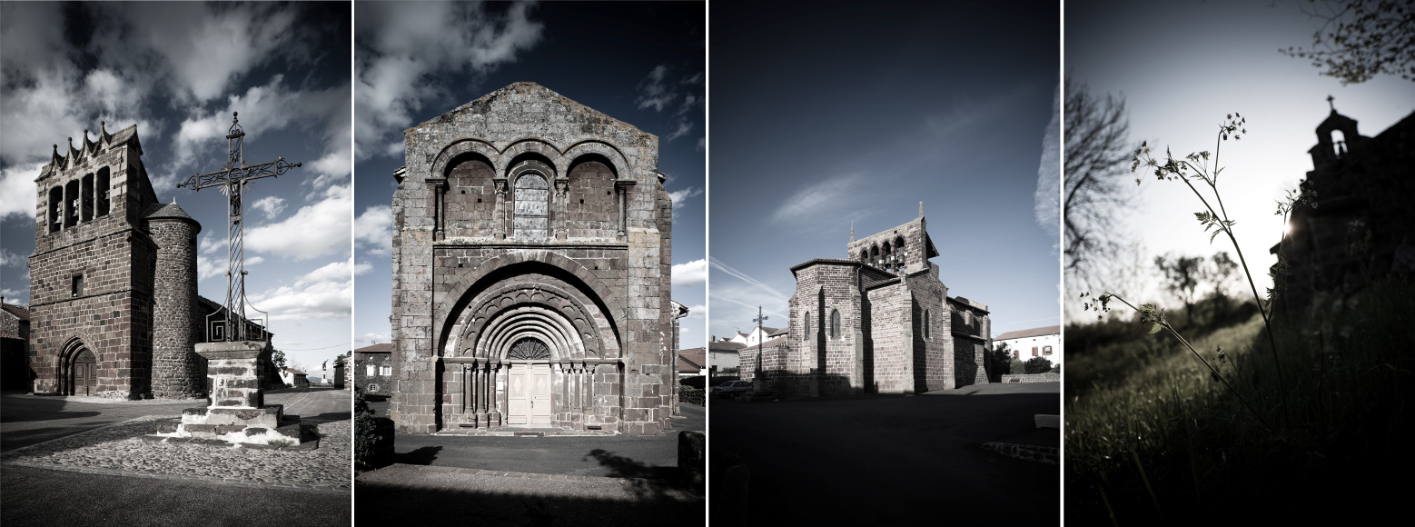
[[[988,306],[948,296],[918,218],[791,268],[790,332],[741,348],[741,378],[778,394],[918,394],[986,384]],[[760,390],[760,388],[758,388]]]

